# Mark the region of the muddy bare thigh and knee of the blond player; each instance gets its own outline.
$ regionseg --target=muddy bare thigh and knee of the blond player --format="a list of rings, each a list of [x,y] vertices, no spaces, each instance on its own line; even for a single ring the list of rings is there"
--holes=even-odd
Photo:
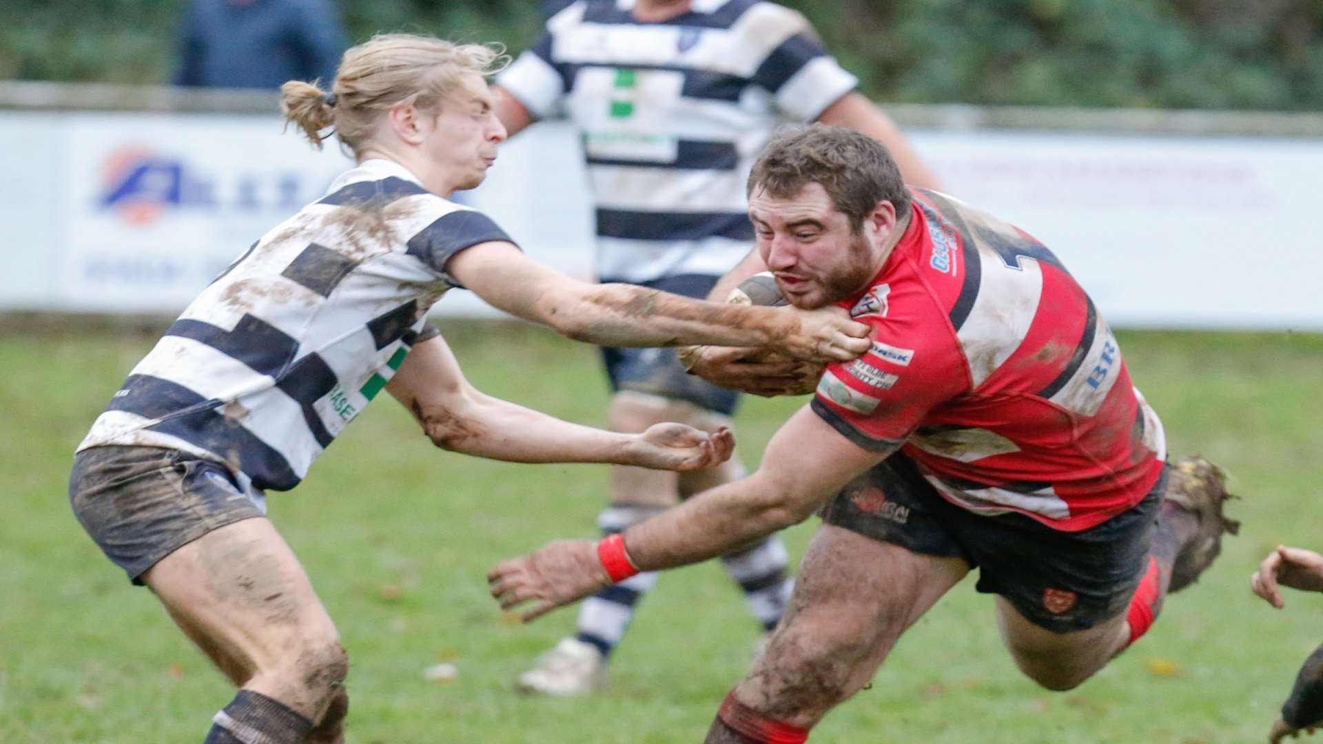
[[[235,684],[321,720],[348,665],[335,624],[267,519],[208,532],[143,580]]]

